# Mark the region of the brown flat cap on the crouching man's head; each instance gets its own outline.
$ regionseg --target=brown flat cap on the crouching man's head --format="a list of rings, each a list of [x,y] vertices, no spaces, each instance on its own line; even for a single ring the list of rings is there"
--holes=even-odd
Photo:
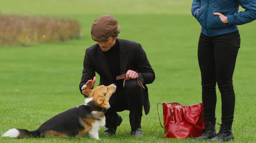
[[[117,20],[112,15],[102,15],[92,25],[91,35],[94,41],[104,41],[116,31]]]

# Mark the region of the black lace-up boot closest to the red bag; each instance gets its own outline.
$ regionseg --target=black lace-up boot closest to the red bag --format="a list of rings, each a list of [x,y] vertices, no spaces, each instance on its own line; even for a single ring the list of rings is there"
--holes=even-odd
[[[215,130],[215,121],[204,121],[205,129],[203,130],[202,134],[199,137],[196,137],[195,139],[211,139],[216,135]]]

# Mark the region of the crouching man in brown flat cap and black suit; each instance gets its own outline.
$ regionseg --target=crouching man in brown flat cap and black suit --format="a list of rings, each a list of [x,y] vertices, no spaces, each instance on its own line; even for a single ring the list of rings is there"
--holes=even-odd
[[[117,112],[129,110],[131,136],[142,137],[142,106],[146,115],[150,109],[145,85],[155,80],[155,73],[141,45],[117,39],[119,33],[117,20],[111,15],[102,15],[93,22],[91,36],[97,44],[86,49],[79,89],[82,93],[82,90],[94,87],[95,72],[100,76],[99,85],[115,83],[117,90],[109,100],[111,107],[105,113],[104,134],[116,134],[117,126],[122,122]],[[116,80],[121,74],[126,74],[125,80]],[[139,86],[138,78],[145,89]]]

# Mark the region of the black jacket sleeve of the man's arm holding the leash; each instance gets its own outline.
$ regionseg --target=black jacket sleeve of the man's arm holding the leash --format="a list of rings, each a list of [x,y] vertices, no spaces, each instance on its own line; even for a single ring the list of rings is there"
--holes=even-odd
[[[139,48],[136,51],[136,62],[139,80],[142,84],[151,84],[155,80],[155,72],[152,69],[145,51],[139,44]]]

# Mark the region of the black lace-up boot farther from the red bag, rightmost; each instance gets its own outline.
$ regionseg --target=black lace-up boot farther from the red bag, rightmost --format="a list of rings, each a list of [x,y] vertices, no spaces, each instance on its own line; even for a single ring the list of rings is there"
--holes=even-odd
[[[219,133],[212,139],[209,139],[208,141],[229,141],[229,140],[233,140],[234,136],[232,133],[232,124],[229,125],[225,125],[225,124],[220,124],[217,123],[218,125],[220,125],[220,131]]]

